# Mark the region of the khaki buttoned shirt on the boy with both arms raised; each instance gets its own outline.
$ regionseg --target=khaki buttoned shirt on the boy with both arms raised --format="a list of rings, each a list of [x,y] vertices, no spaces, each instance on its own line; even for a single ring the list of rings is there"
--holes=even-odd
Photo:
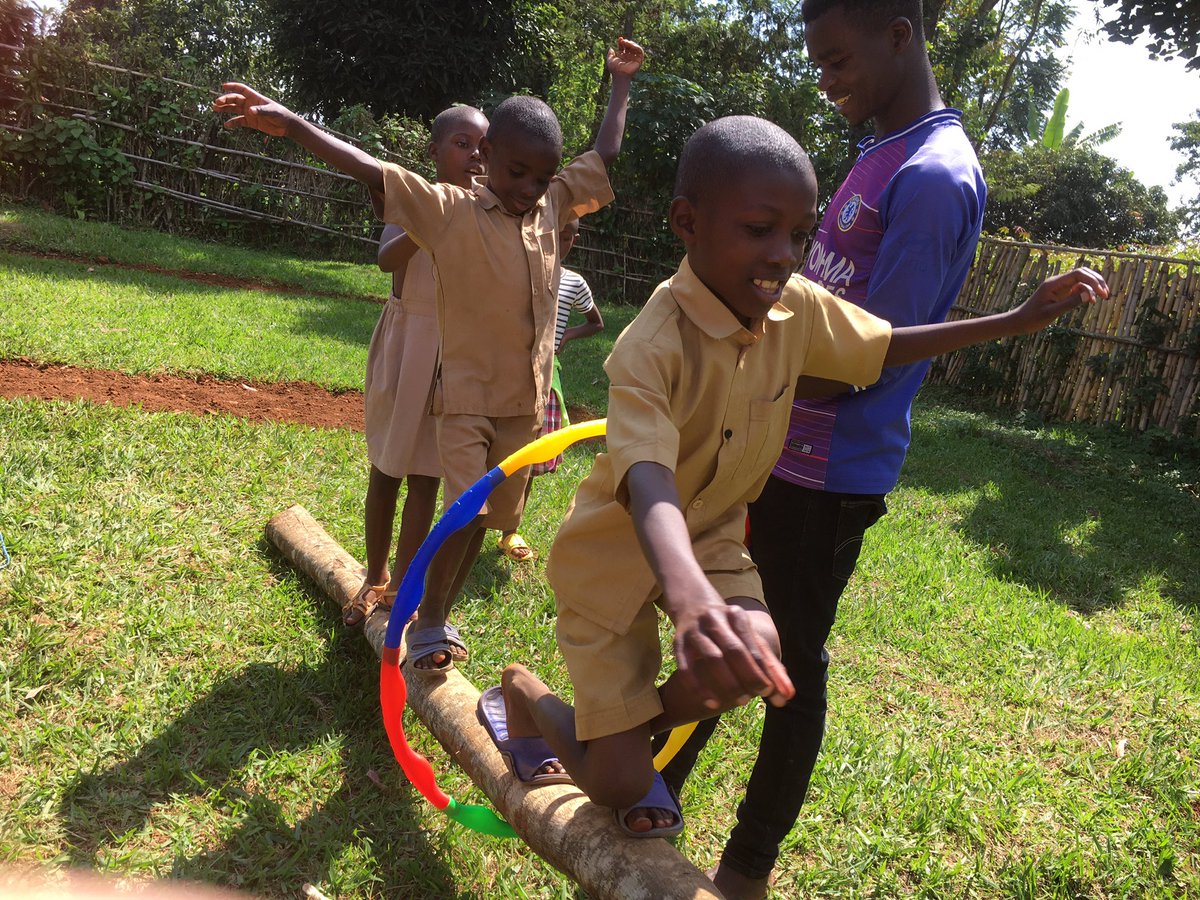
[[[383,168],[383,220],[438,269],[439,374],[433,412],[541,415],[554,359],[558,232],[613,198],[604,160],[574,160],[538,205],[505,211],[486,184],[470,191]]]

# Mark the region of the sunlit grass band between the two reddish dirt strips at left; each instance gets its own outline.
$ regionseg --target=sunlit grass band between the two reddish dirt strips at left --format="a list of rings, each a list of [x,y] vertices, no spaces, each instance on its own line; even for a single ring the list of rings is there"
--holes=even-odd
[[[0,253],[0,356],[362,389],[382,307]]]

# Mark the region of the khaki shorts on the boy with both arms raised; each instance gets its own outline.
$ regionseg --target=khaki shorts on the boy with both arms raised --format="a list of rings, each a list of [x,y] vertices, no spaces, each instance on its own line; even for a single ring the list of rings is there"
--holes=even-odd
[[[540,415],[439,415],[443,506],[449,508],[490,469],[536,438],[541,421]],[[528,480],[528,466],[504,479],[484,504],[484,524],[505,532],[520,526]]]

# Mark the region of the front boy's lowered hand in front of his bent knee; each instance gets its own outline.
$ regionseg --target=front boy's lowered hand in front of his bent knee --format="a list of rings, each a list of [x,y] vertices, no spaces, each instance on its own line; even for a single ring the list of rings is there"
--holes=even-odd
[[[754,629],[740,606],[716,600],[676,620],[679,677],[709,709],[766,697],[784,706],[794,694],[787,670]]]

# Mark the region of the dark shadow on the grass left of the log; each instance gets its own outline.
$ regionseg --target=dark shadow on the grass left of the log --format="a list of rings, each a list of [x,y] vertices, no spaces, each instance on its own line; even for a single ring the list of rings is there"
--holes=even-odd
[[[172,840],[184,847],[172,862],[175,877],[280,896],[298,893],[304,881],[354,882],[373,871],[388,892],[458,896],[443,852],[421,827],[424,800],[398,775],[380,727],[374,654],[358,631],[341,626],[307,578],[274,556],[272,569],[307,586],[323,629],[336,635],[329,656],[316,667],[251,664],[134,756],[78,776],[60,808],[67,860],[103,868],[130,852],[122,847],[127,839]],[[305,757],[326,742],[341,742],[337,773]],[[368,775],[372,769],[382,785]],[[294,796],[296,782],[322,793],[320,784],[331,779],[341,787],[302,814],[298,803],[289,812],[276,799]],[[170,821],[181,804],[193,806],[184,814],[190,832]],[[138,836],[144,830],[155,834]],[[364,856],[376,863],[361,863]]]

